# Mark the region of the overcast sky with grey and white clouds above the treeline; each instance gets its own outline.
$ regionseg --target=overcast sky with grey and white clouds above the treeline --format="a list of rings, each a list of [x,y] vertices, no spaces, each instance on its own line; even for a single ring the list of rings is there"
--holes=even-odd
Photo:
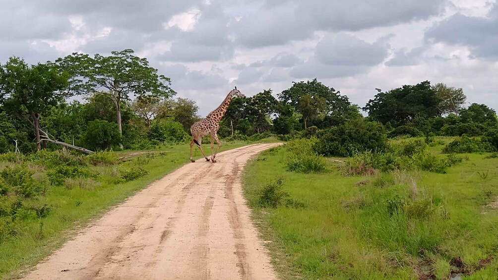
[[[205,116],[318,78],[364,106],[429,80],[498,109],[496,0],[0,0],[0,62],[131,48]]]

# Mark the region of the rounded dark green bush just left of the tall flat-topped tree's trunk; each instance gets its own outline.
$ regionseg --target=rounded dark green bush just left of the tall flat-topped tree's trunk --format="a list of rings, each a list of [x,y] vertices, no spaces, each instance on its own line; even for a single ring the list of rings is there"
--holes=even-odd
[[[119,146],[121,135],[118,124],[100,119],[88,122],[84,142],[91,150],[107,150]]]

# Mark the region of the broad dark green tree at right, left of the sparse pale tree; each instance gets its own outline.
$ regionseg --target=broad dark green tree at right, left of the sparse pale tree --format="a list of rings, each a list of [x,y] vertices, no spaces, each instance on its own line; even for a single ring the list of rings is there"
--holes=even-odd
[[[385,93],[376,90],[377,94],[363,110],[383,124],[390,122],[396,127],[413,121],[416,116],[432,118],[438,115],[440,99],[429,81],[415,86],[405,85]]]

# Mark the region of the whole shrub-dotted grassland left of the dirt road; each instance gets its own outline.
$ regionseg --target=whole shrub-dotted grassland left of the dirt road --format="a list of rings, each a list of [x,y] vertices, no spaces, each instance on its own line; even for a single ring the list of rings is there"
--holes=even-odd
[[[221,151],[249,143],[225,143]],[[62,150],[1,154],[0,278],[36,264],[72,230],[189,162],[188,150],[179,144],[89,156]]]

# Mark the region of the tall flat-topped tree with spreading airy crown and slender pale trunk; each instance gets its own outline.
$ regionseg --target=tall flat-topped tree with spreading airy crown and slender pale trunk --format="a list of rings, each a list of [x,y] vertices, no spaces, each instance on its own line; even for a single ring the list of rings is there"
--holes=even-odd
[[[130,96],[168,98],[176,94],[170,79],[157,74],[146,58],[133,55],[133,50],[114,51],[111,56],[73,53],[60,58],[58,65],[71,73],[71,85],[82,94],[101,94],[114,103],[119,133],[123,135],[121,104]]]

